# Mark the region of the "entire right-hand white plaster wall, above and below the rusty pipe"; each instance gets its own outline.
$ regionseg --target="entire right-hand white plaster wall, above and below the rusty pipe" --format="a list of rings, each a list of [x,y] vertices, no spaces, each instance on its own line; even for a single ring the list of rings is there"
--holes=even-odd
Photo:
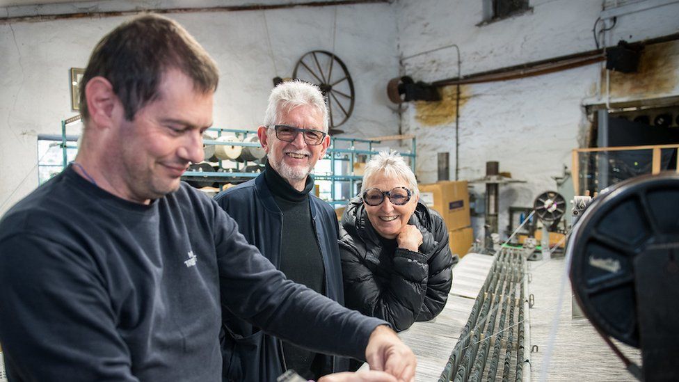
[[[456,44],[465,76],[595,49],[591,29],[600,13],[599,1],[543,0],[530,1],[530,5],[532,11],[525,14],[479,26],[481,1],[399,0],[401,57]],[[676,33],[678,24],[670,15],[677,14],[679,4],[618,17],[616,28],[602,38],[602,44]],[[457,77],[456,62],[454,48],[441,49],[404,61],[401,73],[415,81],[452,78]],[[584,100],[602,102],[596,93],[599,83],[600,65],[595,64],[526,79],[462,86],[459,179],[484,177],[486,161],[500,161],[500,171],[527,181],[500,186],[500,232],[508,225],[509,206],[532,206],[539,193],[557,188],[552,177],[561,175],[564,165],[570,168],[571,150],[582,145],[589,129],[581,105]],[[444,94],[452,94],[453,89],[445,88]],[[670,93],[676,94],[676,86]],[[436,182],[438,152],[450,153],[454,178],[451,101],[454,97],[444,105],[451,113],[449,118],[440,118],[441,108],[424,109],[417,103],[403,106],[404,132],[417,134],[420,182]],[[485,187],[475,186],[474,191],[485,193]],[[483,232],[483,223],[482,217],[472,218],[477,237]]]

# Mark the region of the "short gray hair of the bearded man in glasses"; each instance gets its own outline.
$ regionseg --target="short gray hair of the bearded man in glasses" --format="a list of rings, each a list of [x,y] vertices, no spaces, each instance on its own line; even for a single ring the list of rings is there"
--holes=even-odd
[[[310,105],[323,116],[323,132],[328,132],[328,107],[318,86],[304,81],[285,81],[271,90],[269,106],[264,114],[264,126],[272,127],[278,122],[281,110],[290,111],[296,106]]]

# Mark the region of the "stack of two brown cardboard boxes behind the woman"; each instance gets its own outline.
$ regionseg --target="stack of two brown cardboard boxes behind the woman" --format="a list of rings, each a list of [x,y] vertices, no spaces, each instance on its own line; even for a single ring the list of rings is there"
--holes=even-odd
[[[442,181],[420,184],[420,200],[436,210],[448,228],[450,250],[463,257],[474,241],[469,213],[467,181]]]

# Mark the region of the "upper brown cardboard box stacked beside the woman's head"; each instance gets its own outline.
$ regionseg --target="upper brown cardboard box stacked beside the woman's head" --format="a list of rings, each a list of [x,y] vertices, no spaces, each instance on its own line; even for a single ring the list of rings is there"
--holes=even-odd
[[[458,230],[472,224],[466,180],[420,184],[418,188],[420,200],[441,214],[448,230]]]

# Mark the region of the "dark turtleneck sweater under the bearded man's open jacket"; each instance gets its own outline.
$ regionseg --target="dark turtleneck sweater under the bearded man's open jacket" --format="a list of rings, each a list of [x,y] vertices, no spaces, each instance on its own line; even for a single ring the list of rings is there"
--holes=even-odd
[[[323,258],[309,203],[313,178],[308,176],[304,189],[297,191],[266,161],[264,180],[283,214],[280,271],[290,280],[325,294]],[[305,379],[318,379],[332,371],[326,369],[325,356],[287,342],[282,344],[285,366]]]

